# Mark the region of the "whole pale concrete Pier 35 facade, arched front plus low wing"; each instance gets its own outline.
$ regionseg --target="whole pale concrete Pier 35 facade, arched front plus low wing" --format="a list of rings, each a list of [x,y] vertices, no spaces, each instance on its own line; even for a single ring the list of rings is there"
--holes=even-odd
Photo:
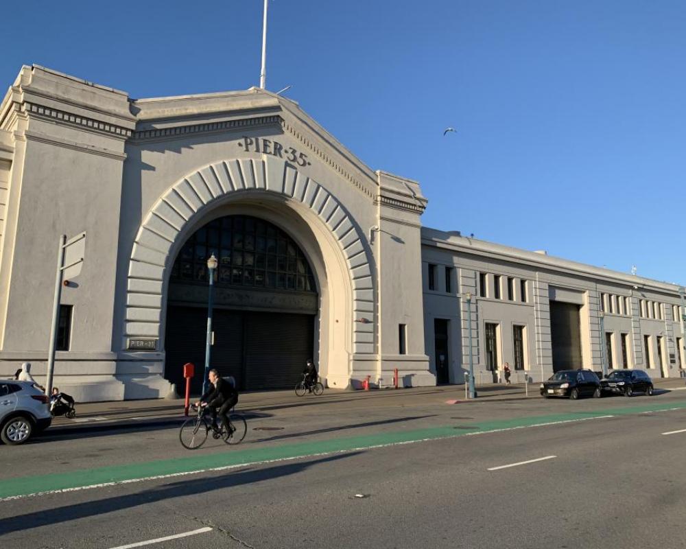
[[[84,232],[82,272],[62,291],[73,307],[71,338],[57,352],[55,384],[79,401],[167,395],[169,271],[190,235],[238,214],[279,226],[307,256],[315,359],[332,388],[367,377],[390,386],[394,369],[405,386],[436,384],[435,318],[449,321],[449,382],[462,382],[465,292],[475,296],[482,377],[492,375],[486,322],[498,326],[500,362],[510,358],[512,325],[521,325],[525,371],[549,375],[551,300],[580,307],[584,367],[598,369],[601,299],[606,331],[630,334],[632,366],[645,364],[645,336],[652,367],[658,342],[664,360],[678,361],[664,375],[685,364],[673,286],[423,229],[426,206],[418,183],[370,170],[295,102],[268,91],[132,100],[23,67],[0,105],[0,376],[27,360],[39,381],[45,375],[58,238]],[[452,268],[450,292],[441,277],[429,290],[429,264]],[[512,300],[503,299],[507,277],[517,281]]]

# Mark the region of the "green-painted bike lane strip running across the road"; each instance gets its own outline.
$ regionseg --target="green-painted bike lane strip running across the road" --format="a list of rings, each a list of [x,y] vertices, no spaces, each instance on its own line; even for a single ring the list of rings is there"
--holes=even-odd
[[[643,406],[617,406],[603,410],[566,412],[558,414],[513,417],[490,421],[464,422],[412,430],[377,432],[300,443],[272,443],[257,448],[227,448],[215,454],[191,453],[188,457],[150,460],[63,473],[21,476],[0,480],[0,502],[43,493],[58,493],[110,486],[143,480],[174,478],[207,471],[229,470],[247,465],[273,463],[282,460],[310,458],[329,454],[353,452],[375,447],[419,443],[436,439],[451,439],[521,428],[543,427],[560,423],[574,423],[590,419],[626,416],[646,412],[666,412],[686,409],[683,399]]]

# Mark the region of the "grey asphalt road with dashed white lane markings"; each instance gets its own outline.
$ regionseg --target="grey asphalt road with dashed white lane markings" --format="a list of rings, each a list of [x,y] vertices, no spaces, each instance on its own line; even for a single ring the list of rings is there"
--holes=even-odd
[[[0,489],[16,476],[85,474],[104,463],[137,467],[189,455],[202,461],[285,445],[314,453],[317,445],[351,435],[367,442],[222,471],[0,500],[0,547],[112,549],[184,534],[150,546],[686,547],[686,431],[674,432],[686,430],[685,400],[686,392],[673,391],[452,406],[429,399],[347,411],[322,404],[307,413],[256,414],[239,449],[210,441],[198,452],[180,447],[176,428],[47,436],[0,447]],[[456,436],[388,443],[397,432],[414,430],[421,439],[439,425]],[[467,434],[475,425],[485,431]]]

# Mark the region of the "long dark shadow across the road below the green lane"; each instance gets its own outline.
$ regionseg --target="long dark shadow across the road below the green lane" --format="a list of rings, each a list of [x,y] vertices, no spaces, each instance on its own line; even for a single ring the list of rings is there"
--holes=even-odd
[[[332,461],[350,458],[359,454],[362,454],[362,452],[351,452],[349,454],[329,456],[327,458],[321,458],[307,462],[276,465],[274,467],[268,467],[265,469],[244,469],[243,471],[229,474],[215,473],[209,478],[196,478],[182,482],[172,482],[171,484],[164,484],[156,489],[146,490],[139,493],[117,495],[113,498],[106,498],[104,500],[88,501],[75,505],[65,505],[55,509],[48,509],[47,511],[36,511],[34,513],[27,513],[25,515],[19,515],[16,517],[0,519],[0,535],[23,530],[27,527],[27,525],[30,525],[31,528],[51,526],[52,524],[59,524],[60,522],[69,522],[71,520],[78,520],[86,517],[95,517],[97,515],[104,515],[106,513],[121,511],[123,509],[131,509],[132,507],[147,505],[162,500],[183,498],[186,495],[198,495],[215,490],[241,486],[241,484],[250,484],[252,482],[259,482],[261,480],[271,480],[273,478],[294,475],[309,469],[309,467],[312,465],[330,463]]]

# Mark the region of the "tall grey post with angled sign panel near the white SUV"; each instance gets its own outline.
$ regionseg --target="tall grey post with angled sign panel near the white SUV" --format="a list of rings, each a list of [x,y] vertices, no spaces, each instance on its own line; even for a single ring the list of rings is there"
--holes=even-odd
[[[57,254],[57,274],[55,277],[55,299],[52,307],[52,327],[50,331],[50,348],[47,355],[47,373],[45,394],[52,393],[52,377],[55,369],[55,347],[57,343],[58,322],[60,320],[60,301],[62,299],[62,282],[74,279],[81,274],[81,266],[86,257],[86,233],[80,233],[67,240],[67,235],[60,236]]]

